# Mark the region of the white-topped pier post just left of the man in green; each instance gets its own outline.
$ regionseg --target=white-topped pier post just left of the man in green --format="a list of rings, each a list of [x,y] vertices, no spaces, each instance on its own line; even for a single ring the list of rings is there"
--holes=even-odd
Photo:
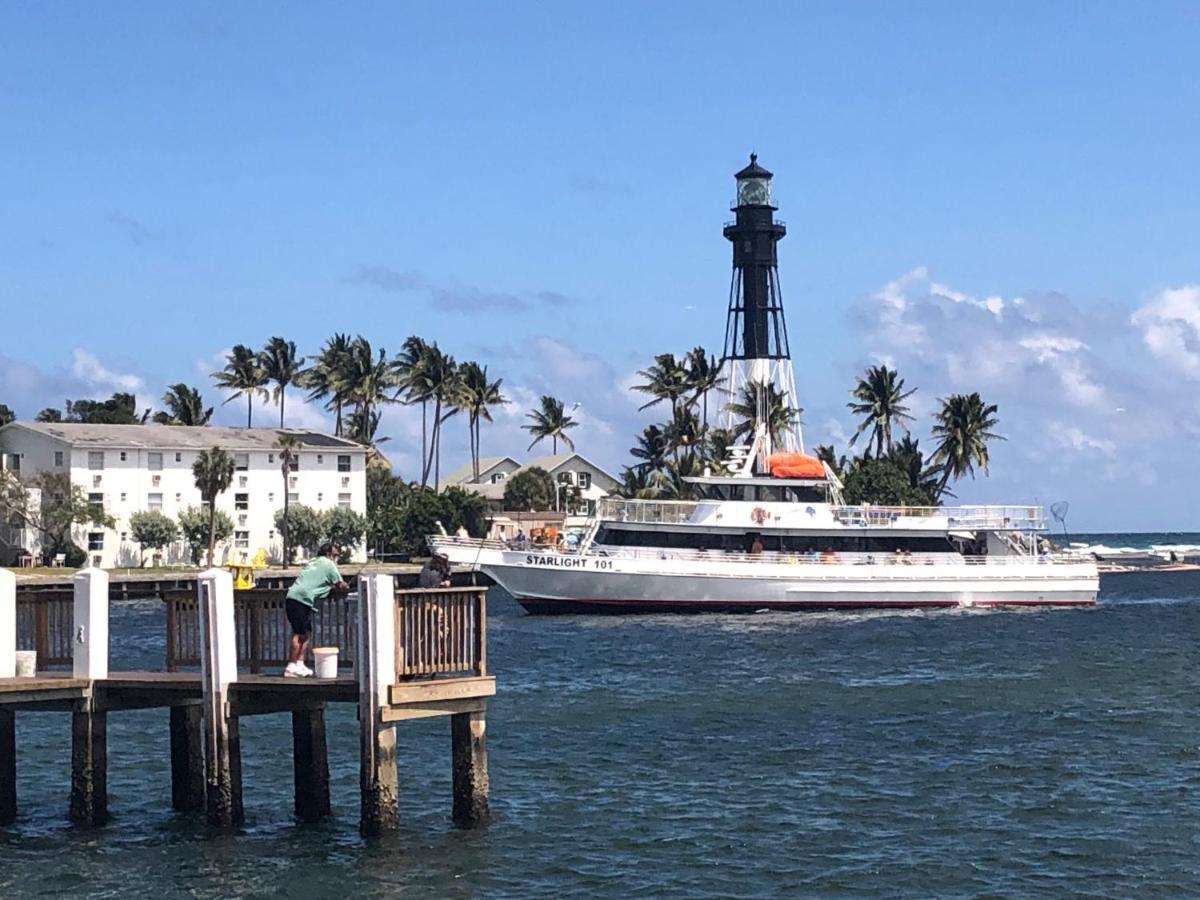
[[[242,818],[241,743],[229,715],[229,685],[238,680],[238,630],[233,576],[208,569],[196,582],[200,624],[200,685],[204,694],[204,781],[209,824],[228,828]]]

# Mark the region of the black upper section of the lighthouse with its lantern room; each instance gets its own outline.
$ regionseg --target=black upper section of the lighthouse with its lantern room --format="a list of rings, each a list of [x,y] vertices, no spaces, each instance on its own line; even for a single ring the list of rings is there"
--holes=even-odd
[[[770,198],[772,173],[750,154],[750,164],[734,175],[738,182],[737,215],[725,226],[733,244],[733,280],[725,325],[726,360],[790,359],[784,299],[779,290],[779,258],[775,245],[787,227],[775,221]]]

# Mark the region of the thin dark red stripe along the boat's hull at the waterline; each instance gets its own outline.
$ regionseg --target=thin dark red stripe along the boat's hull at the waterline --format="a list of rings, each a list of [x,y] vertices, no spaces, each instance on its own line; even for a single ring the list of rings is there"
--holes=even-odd
[[[538,596],[518,596],[521,604],[534,614],[565,613],[656,613],[656,612],[757,612],[816,611],[816,610],[920,610],[954,606],[1094,606],[1096,600],[608,600],[600,598],[553,600]]]

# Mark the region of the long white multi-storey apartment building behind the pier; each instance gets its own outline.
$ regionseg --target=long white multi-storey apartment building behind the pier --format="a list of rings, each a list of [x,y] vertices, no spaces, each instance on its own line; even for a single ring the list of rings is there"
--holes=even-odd
[[[276,446],[283,434],[299,442],[284,488]],[[116,520],[112,529],[79,527],[76,544],[100,568],[136,566],[142,548],[128,520],[138,510],[158,510],[172,518],[200,505],[192,463],[202,450],[218,446],[234,458],[233,485],[217,509],[234,523],[233,536],[217,546],[220,562],[250,562],[259,550],[268,559],[283,556],[275,512],[289,503],[317,510],[344,506],[366,515],[366,448],[346,438],[298,428],[216,428],[176,425],[77,425],[11,422],[0,428],[0,464],[30,476],[68,473],[89,500]],[[28,539],[26,539],[28,547]],[[35,550],[34,547],[28,547]],[[365,548],[353,556],[365,558]],[[166,548],[163,563],[190,562],[186,544]],[[151,553],[146,553],[150,564]]]

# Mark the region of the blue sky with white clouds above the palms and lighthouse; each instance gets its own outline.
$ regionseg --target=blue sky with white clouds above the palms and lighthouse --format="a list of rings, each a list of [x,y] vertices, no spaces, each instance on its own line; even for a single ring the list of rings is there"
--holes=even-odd
[[[552,394],[616,473],[637,371],[720,352],[756,151],[808,444],[887,362],[925,440],[1000,407],[961,502],[1200,530],[1198,46],[1171,2],[7,2],[0,402],[185,382],[238,424],[234,343],[416,334],[504,379],[485,455]],[[415,476],[419,413],[380,431]]]

